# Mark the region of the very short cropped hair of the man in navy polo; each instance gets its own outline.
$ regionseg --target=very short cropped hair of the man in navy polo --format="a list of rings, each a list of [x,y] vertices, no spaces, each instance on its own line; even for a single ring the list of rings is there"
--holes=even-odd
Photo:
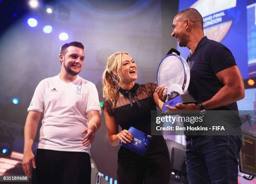
[[[191,22],[196,23],[203,29],[204,21],[202,19],[202,15],[200,14],[200,12],[197,11],[197,9],[190,7],[182,10],[177,15],[182,16],[182,18],[189,19]]]

